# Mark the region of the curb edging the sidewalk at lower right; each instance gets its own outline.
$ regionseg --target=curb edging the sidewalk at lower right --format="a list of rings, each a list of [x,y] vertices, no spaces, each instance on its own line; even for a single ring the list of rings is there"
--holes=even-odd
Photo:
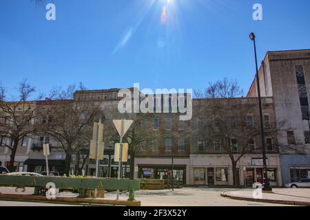
[[[221,192],[221,197],[227,197],[229,199],[237,199],[244,201],[258,201],[265,203],[276,203],[276,204],[284,204],[284,205],[292,205],[292,206],[310,206],[310,201],[290,201],[290,200],[278,200],[278,199],[254,199],[249,197],[240,197],[236,195],[230,195],[229,192]]]

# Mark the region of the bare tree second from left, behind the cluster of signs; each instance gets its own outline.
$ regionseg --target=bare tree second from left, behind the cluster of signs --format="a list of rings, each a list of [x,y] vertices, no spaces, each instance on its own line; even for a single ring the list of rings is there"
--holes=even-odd
[[[81,85],[79,89],[84,89]],[[84,155],[85,146],[90,144],[94,119],[101,113],[98,104],[91,101],[73,100],[76,85],[53,94],[56,100],[45,102],[38,111],[39,118],[50,118],[48,124],[41,124],[40,132],[54,137],[65,152],[65,174],[70,173],[72,155]],[[85,140],[88,139],[87,145]]]

